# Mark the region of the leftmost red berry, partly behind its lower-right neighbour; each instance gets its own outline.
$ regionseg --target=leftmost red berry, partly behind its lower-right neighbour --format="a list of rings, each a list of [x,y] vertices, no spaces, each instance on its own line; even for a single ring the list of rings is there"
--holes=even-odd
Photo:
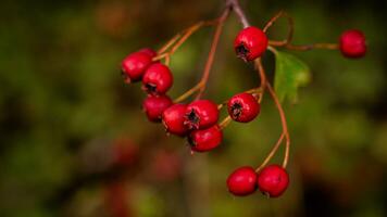
[[[129,84],[140,80],[151,63],[152,58],[142,52],[135,52],[126,56],[122,62],[121,68],[125,82]]]

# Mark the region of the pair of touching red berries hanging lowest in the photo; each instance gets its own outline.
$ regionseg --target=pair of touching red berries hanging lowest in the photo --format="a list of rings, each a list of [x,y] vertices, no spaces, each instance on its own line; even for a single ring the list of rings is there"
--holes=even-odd
[[[270,197],[280,196],[289,184],[289,176],[278,165],[264,167],[258,175],[250,166],[237,168],[227,179],[227,188],[237,196],[253,193],[257,188]]]

